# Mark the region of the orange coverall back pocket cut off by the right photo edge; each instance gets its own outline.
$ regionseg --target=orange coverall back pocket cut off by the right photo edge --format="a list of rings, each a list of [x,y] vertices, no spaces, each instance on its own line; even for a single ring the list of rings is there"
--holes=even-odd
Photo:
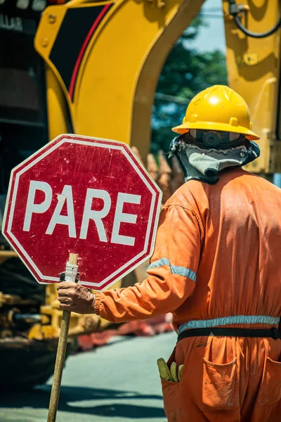
[[[281,400],[281,362],[266,358],[263,378],[259,389],[258,403],[260,407],[274,404]]]

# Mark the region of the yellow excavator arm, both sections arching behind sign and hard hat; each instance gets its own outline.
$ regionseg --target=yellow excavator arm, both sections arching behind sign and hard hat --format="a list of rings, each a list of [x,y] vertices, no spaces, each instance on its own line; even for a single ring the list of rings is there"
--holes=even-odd
[[[117,139],[149,151],[155,88],[174,42],[202,0],[72,0],[49,6],[35,48],[46,62],[49,137]],[[261,158],[281,172],[278,0],[223,0],[230,87],[247,101]]]

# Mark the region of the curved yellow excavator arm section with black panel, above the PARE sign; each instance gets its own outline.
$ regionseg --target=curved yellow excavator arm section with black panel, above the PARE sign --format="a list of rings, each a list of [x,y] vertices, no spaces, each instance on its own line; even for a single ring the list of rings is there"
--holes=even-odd
[[[116,139],[145,159],[159,73],[202,3],[72,0],[46,8],[35,48],[46,62],[50,139]]]

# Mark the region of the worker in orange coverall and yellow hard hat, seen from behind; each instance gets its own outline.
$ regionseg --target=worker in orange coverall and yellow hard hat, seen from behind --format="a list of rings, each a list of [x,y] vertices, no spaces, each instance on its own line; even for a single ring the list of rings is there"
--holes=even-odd
[[[60,308],[115,323],[173,313],[167,373],[181,371],[162,377],[169,422],[278,422],[281,190],[241,168],[259,136],[232,89],[197,94],[174,132],[186,183],[162,209],[148,278],[96,295],[60,283]]]

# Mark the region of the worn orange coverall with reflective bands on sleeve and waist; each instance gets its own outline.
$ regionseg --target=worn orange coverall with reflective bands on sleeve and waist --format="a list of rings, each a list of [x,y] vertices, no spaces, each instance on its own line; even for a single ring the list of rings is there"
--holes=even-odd
[[[114,321],[166,312],[174,328],[278,327],[281,315],[281,190],[236,168],[216,185],[190,180],[159,221],[148,278],[96,295],[96,313]],[[181,327],[181,328],[180,328]],[[191,337],[162,380],[171,421],[281,421],[281,340]]]

